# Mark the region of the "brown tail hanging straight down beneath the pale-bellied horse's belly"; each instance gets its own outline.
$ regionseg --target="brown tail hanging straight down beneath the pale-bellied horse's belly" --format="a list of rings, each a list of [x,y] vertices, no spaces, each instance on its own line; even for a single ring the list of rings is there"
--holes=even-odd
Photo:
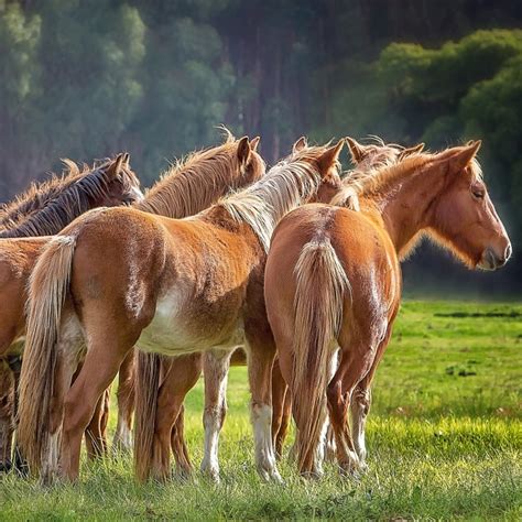
[[[152,466],[161,359],[157,354],[143,354],[141,351],[138,354],[134,469],[140,482],[144,482],[149,478]]]

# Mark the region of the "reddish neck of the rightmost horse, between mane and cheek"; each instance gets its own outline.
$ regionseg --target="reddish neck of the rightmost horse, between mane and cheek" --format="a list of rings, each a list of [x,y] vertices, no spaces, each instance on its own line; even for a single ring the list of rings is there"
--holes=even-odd
[[[433,226],[431,209],[443,183],[436,174],[426,180],[418,172],[382,193],[362,197],[362,211],[387,230],[399,257],[404,257],[415,246],[420,233]]]

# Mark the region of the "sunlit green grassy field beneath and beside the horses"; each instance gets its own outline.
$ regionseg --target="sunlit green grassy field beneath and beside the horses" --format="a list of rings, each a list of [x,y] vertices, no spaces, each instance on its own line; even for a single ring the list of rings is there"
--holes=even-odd
[[[243,368],[232,369],[219,486],[138,486],[130,459],[88,465],[76,486],[0,478],[0,519],[522,519],[522,305],[407,302],[374,385],[368,474],[284,486],[253,469]],[[202,387],[187,437],[202,458]],[[115,412],[112,412],[115,413]],[[113,421],[113,418],[112,418]]]

